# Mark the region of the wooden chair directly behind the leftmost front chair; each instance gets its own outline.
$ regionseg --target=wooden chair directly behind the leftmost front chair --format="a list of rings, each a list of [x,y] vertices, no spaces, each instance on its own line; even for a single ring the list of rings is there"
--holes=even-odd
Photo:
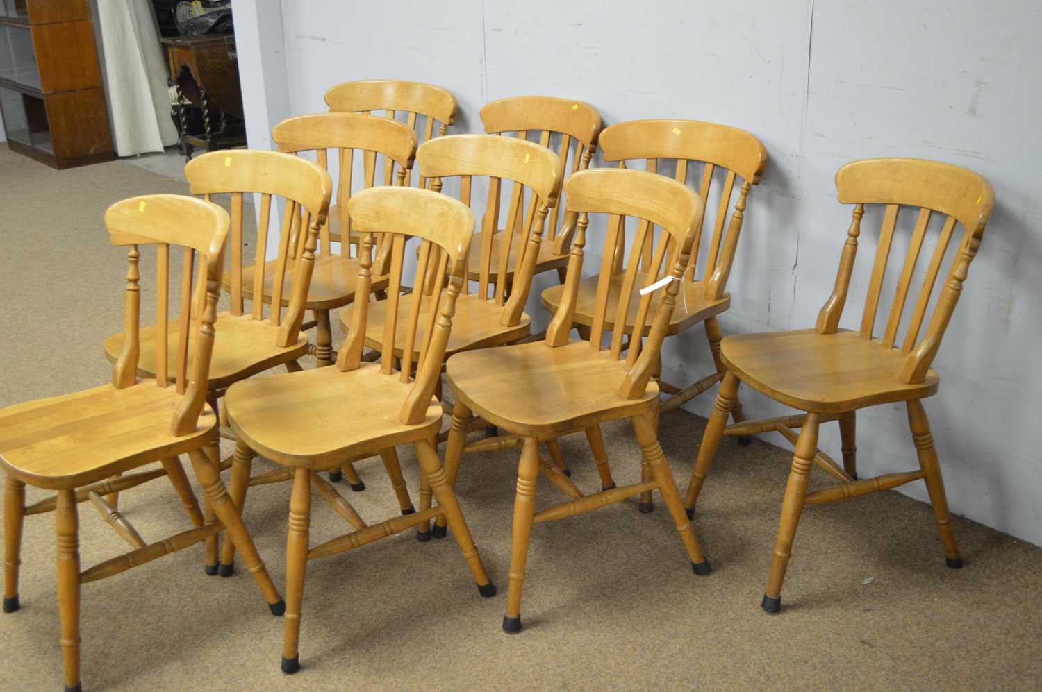
[[[332,183],[329,174],[324,170],[297,156],[268,151],[226,150],[203,154],[184,166],[192,193],[203,195],[209,200],[214,195],[230,193],[231,195],[231,232],[230,232],[230,294],[229,312],[217,315],[217,331],[220,338],[214,348],[209,364],[206,401],[215,410],[219,410],[218,401],[225,389],[233,382],[243,380],[257,373],[286,365],[287,368],[299,368],[297,359],[307,352],[307,337],[300,334],[300,326],[304,315],[304,300],[314,259],[300,261],[302,254],[290,265],[291,231],[295,223],[299,223],[297,210],[303,207],[306,213],[303,228],[307,232],[299,233],[297,228],[297,245],[314,244],[318,229],[325,219],[329,205],[329,194]],[[286,210],[282,214],[282,230],[279,236],[278,259],[275,260],[275,280],[272,282],[273,297],[269,305],[269,313],[264,315],[264,305],[254,301],[250,312],[244,310],[244,270],[243,270],[243,194],[260,193],[260,221],[257,225],[256,255],[264,257],[268,247],[268,219],[272,207],[272,198],[281,197],[286,200]],[[297,220],[295,222],[295,220]],[[311,221],[308,221],[311,220]],[[314,248],[314,245],[313,245]],[[188,262],[189,259],[185,259]],[[265,265],[267,267],[267,265]],[[168,311],[165,307],[156,311],[156,324],[140,330],[141,348],[138,357],[138,375],[145,378],[156,378],[160,370],[172,370],[176,365],[179,351],[175,345],[178,325],[192,319],[191,301],[188,300],[188,277],[191,266],[184,265],[184,284],[181,287],[181,315],[168,324]],[[265,284],[267,272],[252,275],[253,290]],[[286,277],[292,277],[288,285]],[[282,296],[289,294],[283,301]],[[282,305],[289,305],[284,314]],[[105,339],[105,356],[111,362],[118,362],[123,353],[125,333],[115,334]],[[189,354],[192,353],[190,348]],[[189,362],[191,366],[191,355]],[[234,438],[230,429],[223,430],[226,437]],[[217,444],[215,440],[215,445]],[[221,463],[221,468],[232,465],[231,460]],[[132,487],[121,484],[121,487]],[[242,503],[237,498],[237,504]],[[208,512],[208,508],[207,512]],[[231,542],[226,542],[226,549],[231,549]],[[218,573],[217,537],[207,540],[205,569],[207,574]],[[230,575],[225,568],[225,575]]]

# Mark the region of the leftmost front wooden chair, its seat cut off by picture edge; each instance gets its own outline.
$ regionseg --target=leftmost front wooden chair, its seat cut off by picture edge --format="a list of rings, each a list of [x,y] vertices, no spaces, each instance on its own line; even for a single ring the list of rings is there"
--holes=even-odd
[[[224,152],[221,153],[224,155]],[[239,511],[221,483],[217,459],[206,447],[217,442],[217,415],[206,404],[207,375],[214,351],[222,249],[228,232],[228,214],[216,204],[189,197],[153,195],[114,204],[105,225],[115,246],[129,246],[126,274],[124,328],[120,358],[113,380],[93,389],[53,396],[0,411],[0,466],[6,473],[4,488],[4,612],[19,609],[18,569],[25,507],[25,484],[56,490],[55,497],[38,504],[35,512],[55,511],[57,534],[57,590],[61,616],[61,649],[66,690],[80,689],[79,599],[80,585],[123,572],[169,553],[183,549],[227,529],[245,554],[272,613],[281,615],[284,604],[257,556]],[[202,305],[193,322],[190,311],[171,325],[173,362],[167,367],[167,323],[159,322],[159,371],[154,380],[139,381],[139,359],[146,339],[139,327],[141,287],[139,246],[156,246],[156,308],[168,307],[171,246],[184,249],[185,281],[182,304],[192,302],[193,266],[198,256],[196,294]],[[146,330],[149,328],[145,328]],[[196,331],[195,339],[190,332]],[[189,350],[193,357],[188,357]],[[190,378],[191,373],[191,378]],[[171,382],[173,376],[173,382]],[[173,386],[171,386],[173,385]],[[203,519],[178,455],[187,453],[217,519]],[[160,461],[180,495],[194,528],[160,541],[147,543],[103,495],[123,488],[140,476],[130,471]],[[145,472],[146,475],[148,472]],[[134,483],[137,484],[137,483]],[[80,571],[77,505],[90,499],[116,533],[132,548]],[[33,513],[35,513],[33,512]]]

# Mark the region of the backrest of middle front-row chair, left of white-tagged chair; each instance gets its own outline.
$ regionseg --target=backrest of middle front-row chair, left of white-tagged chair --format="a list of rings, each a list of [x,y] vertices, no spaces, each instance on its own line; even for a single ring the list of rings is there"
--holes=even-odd
[[[427,324],[422,330],[423,342],[415,363],[416,379],[399,413],[401,422],[414,425],[422,421],[426,415],[430,398],[441,377],[456,298],[465,282],[467,250],[474,232],[474,214],[467,205],[448,196],[411,187],[375,187],[363,190],[351,198],[349,206],[355,228],[362,233],[356,296],[369,294],[373,234],[389,236],[392,248],[391,284],[388,287],[380,360],[380,370],[383,374],[394,374],[395,333],[399,312],[405,312],[408,325],[404,343],[398,344],[402,350],[399,377],[402,382],[408,382],[413,373],[413,353],[416,351],[416,336],[420,331],[423,303],[426,300],[429,301],[428,305],[439,306],[437,310],[428,309],[424,317]],[[417,288],[412,293],[402,296],[405,240],[411,236],[422,240],[413,282],[413,286]],[[447,275],[448,290],[444,290],[445,283],[442,281],[435,282],[436,288],[430,294],[421,290],[419,287],[427,284],[427,277],[430,275]],[[356,369],[362,361],[368,312],[369,301],[354,304],[351,328],[337,359],[337,366],[341,370]]]

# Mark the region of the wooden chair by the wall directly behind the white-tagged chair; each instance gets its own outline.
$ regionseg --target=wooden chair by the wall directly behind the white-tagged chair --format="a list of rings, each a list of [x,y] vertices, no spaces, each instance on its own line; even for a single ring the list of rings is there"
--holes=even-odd
[[[720,339],[723,332],[717,321],[717,315],[730,307],[730,296],[726,292],[727,278],[735,262],[739,236],[745,219],[745,209],[752,185],[760,183],[760,177],[767,161],[767,154],[756,137],[748,132],[726,125],[702,123],[687,120],[642,120],[618,123],[605,128],[598,138],[601,155],[605,161],[619,162],[619,168],[632,165],[634,161],[643,159],[645,169],[650,173],[667,173],[669,161],[675,161],[673,178],[687,184],[689,171],[695,168],[699,171],[697,190],[702,201],[703,209],[710,205],[710,195],[719,190],[719,203],[713,217],[712,231],[702,233],[704,216],[699,221],[695,231],[694,246],[691,258],[685,268],[684,282],[680,284],[680,305],[673,311],[667,336],[686,332],[698,323],[702,323],[705,336],[709,339],[710,353],[713,357],[714,371],[700,378],[694,384],[678,387],[665,381],[656,368],[655,380],[660,391],[668,394],[662,402],[662,412],[679,408],[686,402],[710,389],[723,379],[723,364],[720,362]],[[716,185],[714,185],[716,182]],[[739,183],[738,199],[731,204],[736,183]],[[728,220],[728,211],[734,212]],[[561,251],[568,247],[568,241],[574,226],[565,229],[560,234]],[[638,239],[647,233],[649,241],[643,245],[634,242],[626,256],[626,229],[620,227],[616,234],[616,246],[609,254],[612,256],[612,282],[607,287],[604,318],[605,332],[622,331],[628,340],[634,338],[635,319],[639,304],[640,288],[647,277],[647,267],[654,256],[654,228],[638,227],[635,236]],[[662,235],[662,234],[660,234]],[[702,242],[703,235],[705,242]],[[662,240],[660,239],[660,242]],[[704,250],[700,248],[704,246]],[[699,256],[702,261],[699,262]],[[601,300],[597,293],[598,276],[591,276],[579,282],[575,298],[575,323],[584,338],[590,337],[590,327],[593,324],[594,308]],[[619,297],[628,291],[631,296],[628,308],[620,308]],[[543,291],[541,297],[543,307],[551,312],[561,307],[564,298],[564,286],[551,286]],[[654,310],[655,300],[652,299],[651,310]],[[644,335],[648,332],[645,328]],[[742,420],[742,407],[735,399],[731,415],[736,422]],[[595,451],[595,459],[599,451],[603,456],[603,442],[600,430],[587,430],[587,437]],[[739,438],[740,442],[748,443],[749,438]],[[552,448],[552,447],[551,447]],[[607,465],[598,459],[597,468],[601,475],[601,484],[611,487],[614,484]],[[642,512],[652,510],[651,494],[647,493],[640,504]]]

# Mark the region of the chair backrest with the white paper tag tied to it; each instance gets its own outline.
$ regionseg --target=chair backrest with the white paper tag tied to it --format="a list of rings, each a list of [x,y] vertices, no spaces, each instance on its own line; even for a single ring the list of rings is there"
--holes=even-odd
[[[567,343],[568,333],[572,328],[581,281],[582,249],[586,247],[589,214],[609,215],[607,236],[604,241],[594,300],[593,324],[590,329],[590,349],[595,353],[604,348],[602,337],[613,276],[611,249],[616,245],[619,229],[624,227],[626,216],[637,219],[639,228],[643,229],[643,233],[639,233],[634,241],[631,257],[639,257],[639,253],[643,252],[643,246],[650,235],[648,228],[661,226],[665,231],[664,241],[659,244],[648,266],[644,287],[654,284],[667,274],[672,280],[668,281],[659,301],[659,307],[651,317],[651,329],[643,349],[640,338],[631,339],[626,349],[629,373],[620,393],[627,399],[641,396],[655,367],[662,341],[666,336],[666,328],[673,314],[675,297],[679,289],[678,282],[683,280],[701,224],[702,202],[683,183],[644,171],[591,169],[571,176],[565,187],[565,194],[568,196],[566,210],[570,215],[576,214],[577,223],[568,258],[564,298],[546,330],[546,343],[551,348]],[[630,261],[626,268],[619,293],[615,324],[625,324],[625,315],[629,312],[632,288],[637,281],[638,263]],[[634,334],[639,335],[644,332],[652,294],[653,291],[649,291],[640,298]],[[615,330],[612,334],[610,351],[612,358],[622,358],[622,334],[621,329]]]

